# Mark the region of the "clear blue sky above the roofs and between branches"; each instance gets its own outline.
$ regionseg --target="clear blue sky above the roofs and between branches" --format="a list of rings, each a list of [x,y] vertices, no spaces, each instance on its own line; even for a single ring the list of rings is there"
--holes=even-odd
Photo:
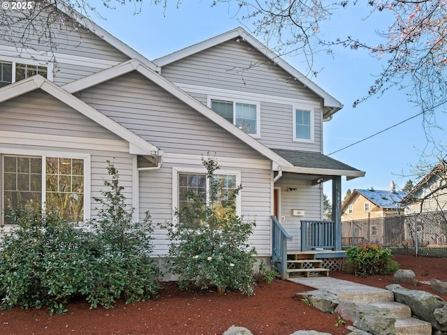
[[[152,60],[242,25],[237,20],[234,6],[219,4],[212,8],[211,2],[184,1],[177,8],[174,0],[168,3],[166,11],[160,5],[146,2],[143,3],[142,13],[138,15],[133,15],[133,5],[129,3],[126,6],[117,5],[116,10],[101,8],[101,3],[98,3],[101,15],[107,20],[91,18]],[[351,35],[368,40],[378,38],[375,27],[386,29],[386,20],[390,20],[390,17],[376,15],[362,20],[367,10],[366,6],[359,5],[350,12],[336,13],[328,22],[330,34],[325,32],[326,24],[321,27],[323,37]],[[247,25],[246,29],[250,28]],[[255,37],[265,43],[261,37]],[[299,55],[283,58],[302,73],[306,72]],[[420,112],[409,102],[408,91],[398,89],[390,89],[383,96],[373,96],[358,107],[352,107],[353,101],[365,95],[369,85],[374,82],[374,74],[380,70],[379,61],[366,52],[337,49],[333,58],[321,53],[314,61],[316,68],[322,70],[312,80],[344,104],[344,108],[335,114],[332,121],[324,124],[324,154],[342,149]],[[447,121],[444,114],[438,114],[437,118],[440,125]],[[441,140],[445,134],[437,130],[432,135]],[[409,176],[410,165],[418,163],[420,151],[425,146],[422,117],[416,117],[330,155],[366,172],[363,178],[343,180],[342,196],[348,188],[387,190],[392,180],[402,188],[412,178]],[[325,193],[330,195],[330,184],[325,185]]]

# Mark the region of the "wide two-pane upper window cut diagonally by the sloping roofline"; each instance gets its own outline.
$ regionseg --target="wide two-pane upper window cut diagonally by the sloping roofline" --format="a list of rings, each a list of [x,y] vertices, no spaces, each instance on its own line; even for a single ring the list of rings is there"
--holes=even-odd
[[[259,103],[212,99],[210,108],[245,133],[259,136]]]

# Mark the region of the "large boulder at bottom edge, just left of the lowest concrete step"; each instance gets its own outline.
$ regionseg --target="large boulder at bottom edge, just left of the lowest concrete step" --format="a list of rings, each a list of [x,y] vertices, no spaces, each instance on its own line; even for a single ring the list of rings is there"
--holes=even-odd
[[[335,308],[342,318],[351,320],[354,327],[363,329],[372,334],[395,335],[396,318],[386,308],[372,304],[357,304],[352,301],[342,301]]]

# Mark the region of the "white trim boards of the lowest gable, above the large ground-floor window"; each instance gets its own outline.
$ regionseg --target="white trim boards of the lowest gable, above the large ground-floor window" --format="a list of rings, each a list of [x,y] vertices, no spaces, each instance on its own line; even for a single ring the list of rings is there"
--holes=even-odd
[[[41,89],[47,94],[54,96],[57,100],[72,107],[74,110],[84,114],[92,121],[95,121],[97,124],[100,124],[112,133],[121,137],[123,140],[129,142],[129,154],[151,155],[153,154],[153,151],[159,151],[153,144],[143,140],[135,133],[129,131],[129,129],[118,124],[109,117],[106,117],[101,112],[98,112],[98,110],[95,110],[93,107],[87,105],[87,103],[80,101],[80,99],[69,94],[67,91],[61,89],[61,87],[53,84],[50,80],[45,79],[41,75],[34,75],[25,80],[20,80],[20,82],[15,82],[14,84],[2,87],[0,89],[0,103],[35,91],[36,89]],[[156,150],[154,150],[154,148]],[[159,154],[162,154],[162,151]]]

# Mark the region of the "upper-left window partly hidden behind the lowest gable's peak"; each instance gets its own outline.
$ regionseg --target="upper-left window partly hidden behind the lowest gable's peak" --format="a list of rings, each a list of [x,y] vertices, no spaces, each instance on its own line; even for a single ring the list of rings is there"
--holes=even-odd
[[[0,62],[0,87],[24,80],[32,75],[42,75],[47,78],[47,66],[23,64],[15,61]]]

